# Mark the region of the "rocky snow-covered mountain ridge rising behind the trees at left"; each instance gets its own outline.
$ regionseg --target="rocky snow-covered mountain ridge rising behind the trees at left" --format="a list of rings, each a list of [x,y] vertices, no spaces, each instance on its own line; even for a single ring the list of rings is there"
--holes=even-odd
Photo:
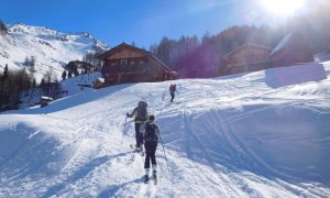
[[[44,26],[22,23],[6,24],[7,35],[0,34],[0,72],[23,67],[28,59],[35,61],[35,78],[53,69],[58,79],[64,66],[70,61],[81,61],[84,55],[96,51],[107,51],[109,46],[88,33],[65,33]]]

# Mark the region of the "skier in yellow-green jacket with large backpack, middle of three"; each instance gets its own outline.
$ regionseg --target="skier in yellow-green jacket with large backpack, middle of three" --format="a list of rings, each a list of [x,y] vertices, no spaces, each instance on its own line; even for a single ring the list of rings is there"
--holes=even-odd
[[[136,147],[138,152],[142,152],[142,144],[143,144],[143,134],[140,128],[143,129],[143,124],[148,121],[148,114],[146,110],[147,103],[145,101],[139,101],[138,107],[134,108],[132,113],[127,112],[127,117],[132,118],[134,117],[135,122],[135,140],[136,140]]]

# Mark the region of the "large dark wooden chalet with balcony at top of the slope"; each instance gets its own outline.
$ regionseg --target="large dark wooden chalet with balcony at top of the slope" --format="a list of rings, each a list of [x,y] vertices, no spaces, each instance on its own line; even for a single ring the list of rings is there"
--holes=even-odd
[[[122,43],[100,55],[105,86],[175,79],[176,73],[153,54]]]

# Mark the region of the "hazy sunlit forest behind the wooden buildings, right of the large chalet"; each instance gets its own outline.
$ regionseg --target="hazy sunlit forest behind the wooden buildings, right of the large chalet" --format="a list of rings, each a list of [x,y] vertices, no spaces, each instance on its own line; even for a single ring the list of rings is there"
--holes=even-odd
[[[228,75],[224,55],[244,43],[274,48],[293,31],[301,32],[309,40],[314,53],[330,53],[330,7],[289,19],[277,28],[267,25],[234,25],[216,35],[206,33],[170,40],[164,36],[150,52],[183,78]]]

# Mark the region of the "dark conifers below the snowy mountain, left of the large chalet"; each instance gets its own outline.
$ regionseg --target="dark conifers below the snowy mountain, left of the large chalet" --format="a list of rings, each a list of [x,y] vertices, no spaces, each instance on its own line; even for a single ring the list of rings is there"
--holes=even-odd
[[[69,62],[65,66],[62,79],[101,70],[101,61],[98,59],[100,53],[87,53],[82,61]],[[0,112],[18,109],[23,98],[28,98],[29,105],[35,105],[32,102],[32,100],[35,101],[35,98],[47,96],[56,99],[65,92],[52,68],[44,74],[40,82],[36,82],[33,76],[35,61],[36,57],[29,58],[26,56],[22,64],[24,67],[18,70],[10,70],[8,64],[4,66],[3,73],[0,74]]]

